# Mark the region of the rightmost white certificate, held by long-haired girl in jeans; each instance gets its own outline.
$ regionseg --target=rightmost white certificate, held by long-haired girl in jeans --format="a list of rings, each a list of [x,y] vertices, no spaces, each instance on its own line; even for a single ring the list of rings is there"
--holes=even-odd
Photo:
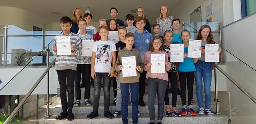
[[[206,44],[205,45],[205,61],[206,62],[219,62],[219,45]]]

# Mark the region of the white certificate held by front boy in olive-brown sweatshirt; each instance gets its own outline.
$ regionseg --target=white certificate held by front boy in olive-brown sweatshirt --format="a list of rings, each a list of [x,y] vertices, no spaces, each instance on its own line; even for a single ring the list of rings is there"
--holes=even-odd
[[[122,57],[123,77],[137,76],[135,56]]]

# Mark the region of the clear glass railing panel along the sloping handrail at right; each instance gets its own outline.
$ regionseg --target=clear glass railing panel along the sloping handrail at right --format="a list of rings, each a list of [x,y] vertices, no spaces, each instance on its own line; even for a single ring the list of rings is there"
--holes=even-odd
[[[217,65],[235,83],[217,69],[220,111],[232,124],[253,124],[256,122],[253,110],[256,107],[253,101],[256,97],[256,70],[223,48],[222,57],[225,63]]]

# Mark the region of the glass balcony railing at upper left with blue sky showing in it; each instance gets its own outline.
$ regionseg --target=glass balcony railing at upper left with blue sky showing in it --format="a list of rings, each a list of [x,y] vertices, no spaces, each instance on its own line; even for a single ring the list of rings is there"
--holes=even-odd
[[[36,58],[28,66],[46,65],[46,58],[41,55],[41,51],[45,50],[46,45],[54,39],[54,35],[61,32],[60,26],[55,24],[8,25],[8,27],[7,66],[25,66],[34,57]],[[4,54],[3,51],[2,56]],[[22,58],[22,61],[19,58]]]

